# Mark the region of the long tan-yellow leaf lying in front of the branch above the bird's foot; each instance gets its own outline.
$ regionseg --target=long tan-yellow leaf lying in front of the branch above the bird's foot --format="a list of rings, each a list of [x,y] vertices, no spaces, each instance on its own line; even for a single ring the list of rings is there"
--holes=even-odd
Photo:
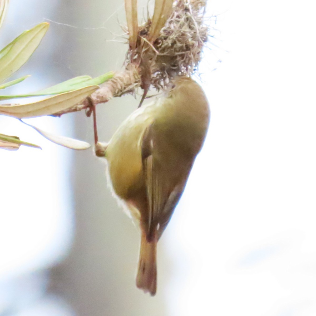
[[[78,104],[98,88],[89,86],[28,104],[0,105],[0,114],[18,119],[52,115]]]

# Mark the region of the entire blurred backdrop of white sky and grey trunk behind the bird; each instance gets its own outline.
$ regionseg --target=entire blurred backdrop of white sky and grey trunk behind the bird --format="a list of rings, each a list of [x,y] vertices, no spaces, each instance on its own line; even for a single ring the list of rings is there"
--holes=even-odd
[[[135,286],[139,235],[104,162],[0,117],[1,133],[43,148],[0,152],[1,316],[316,315],[314,8],[214,0],[208,15],[210,129],[159,242],[157,295]],[[123,0],[10,0],[2,47],[42,21],[48,33],[12,77],[32,75],[19,93],[121,69]],[[99,105],[100,140],[137,105]],[[29,121],[93,143],[83,112]]]

